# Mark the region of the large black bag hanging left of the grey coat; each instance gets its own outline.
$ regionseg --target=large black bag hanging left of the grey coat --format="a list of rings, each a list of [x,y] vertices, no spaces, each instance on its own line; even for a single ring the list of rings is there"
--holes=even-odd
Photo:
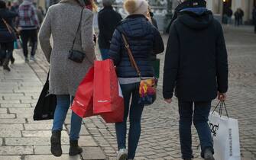
[[[47,82],[41,91],[37,105],[34,108],[34,120],[50,120],[54,117],[54,111],[57,105],[57,98],[55,94],[49,94],[49,73]]]

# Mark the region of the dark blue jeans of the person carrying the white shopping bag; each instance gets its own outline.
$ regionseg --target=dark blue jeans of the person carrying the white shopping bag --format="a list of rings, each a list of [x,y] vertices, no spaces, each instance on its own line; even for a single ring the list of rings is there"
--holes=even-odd
[[[194,104],[194,110],[193,110]],[[211,101],[193,102],[179,101],[180,113],[180,146],[182,158],[193,158],[191,125],[192,120],[196,126],[201,145],[201,156],[209,148],[213,153],[213,144],[211,130],[208,124],[209,112],[211,110]]]

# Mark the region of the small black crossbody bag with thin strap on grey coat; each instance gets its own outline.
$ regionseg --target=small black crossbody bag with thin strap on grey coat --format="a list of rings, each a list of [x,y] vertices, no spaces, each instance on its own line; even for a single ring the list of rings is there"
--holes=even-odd
[[[81,21],[82,21],[82,17],[83,17],[83,9],[81,11],[79,25],[78,25],[77,30],[76,30],[76,37],[77,37],[77,34],[79,32],[79,28],[81,26]],[[73,40],[72,47],[71,47],[71,50],[69,52],[68,58],[70,60],[74,61],[74,62],[81,63],[81,62],[83,62],[83,59],[85,58],[86,54],[81,52],[81,51],[79,51],[79,50],[73,50],[73,47],[74,47],[74,44],[75,44],[75,41],[76,41],[76,37]]]

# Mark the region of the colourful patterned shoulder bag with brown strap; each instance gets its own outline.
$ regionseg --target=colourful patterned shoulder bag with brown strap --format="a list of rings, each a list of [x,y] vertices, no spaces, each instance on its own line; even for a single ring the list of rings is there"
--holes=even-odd
[[[122,34],[122,39],[125,42],[125,48],[127,50],[129,59],[131,61],[131,66],[136,69],[138,76],[141,78],[140,88],[139,88],[139,104],[150,105],[153,104],[157,99],[157,78],[142,78],[141,72],[138,69],[137,63],[135,62],[134,57],[132,56],[130,45],[128,44],[128,40],[125,35]]]

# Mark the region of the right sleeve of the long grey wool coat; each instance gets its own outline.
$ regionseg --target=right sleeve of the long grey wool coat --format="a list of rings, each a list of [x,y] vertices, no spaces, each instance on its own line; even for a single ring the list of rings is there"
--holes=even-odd
[[[93,13],[88,9],[85,9],[81,27],[81,38],[83,51],[86,53],[89,62],[94,62],[96,59],[95,55],[95,45],[93,41]]]

